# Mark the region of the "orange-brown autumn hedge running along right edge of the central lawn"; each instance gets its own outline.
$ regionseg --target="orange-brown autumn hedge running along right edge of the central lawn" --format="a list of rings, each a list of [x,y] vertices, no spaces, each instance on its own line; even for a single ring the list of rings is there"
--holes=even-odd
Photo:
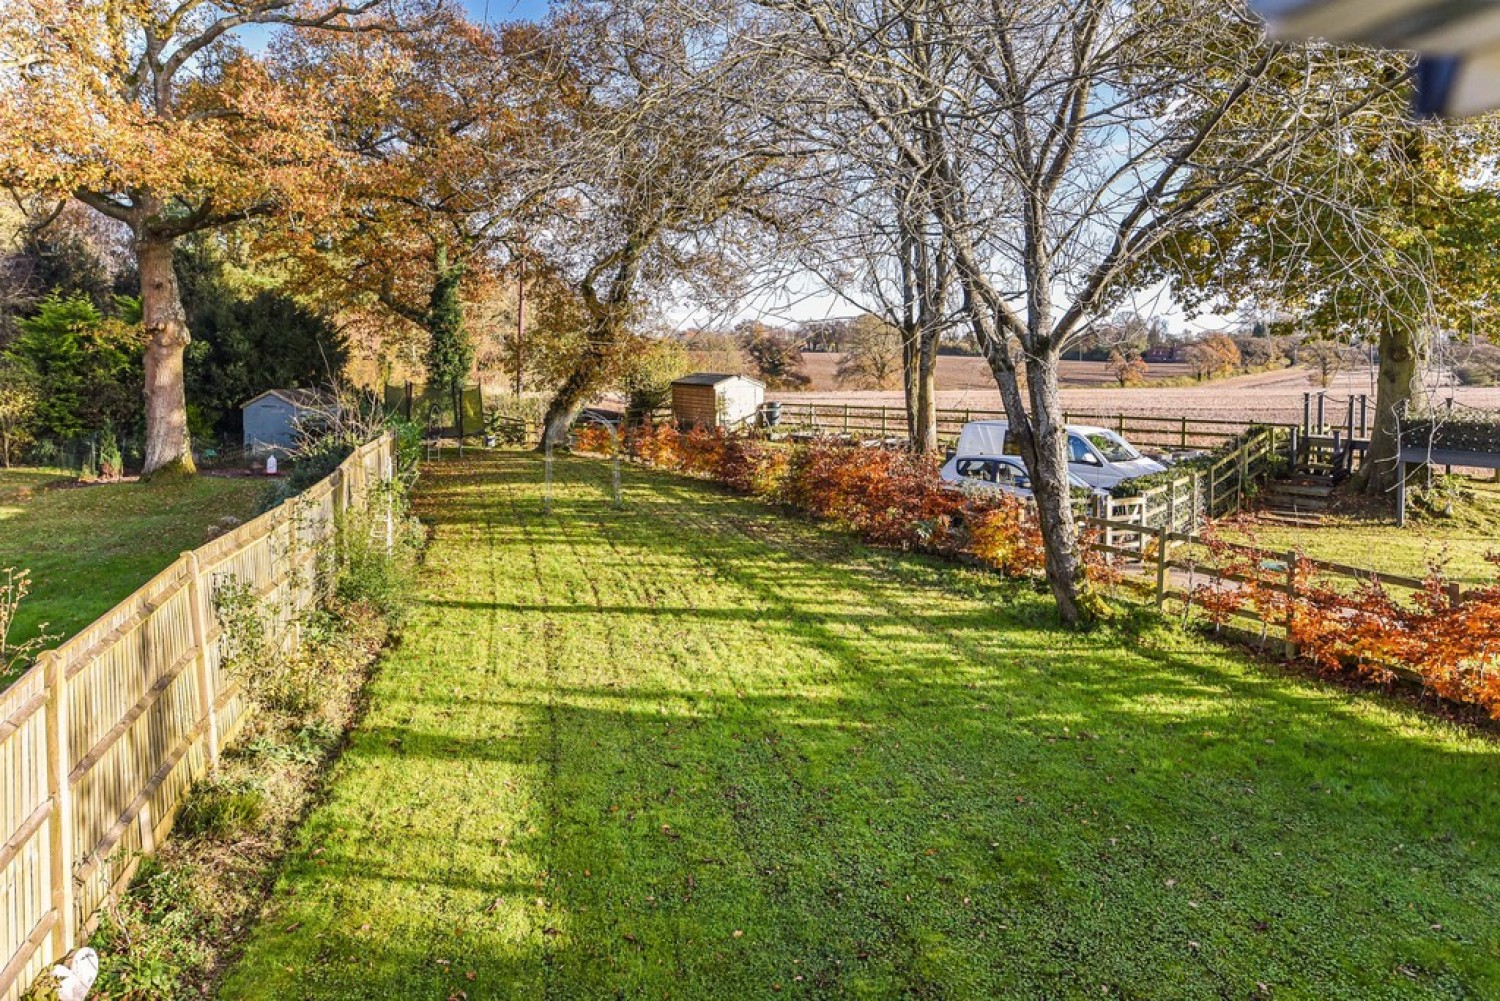
[[[579,431],[574,444],[606,455],[614,447],[606,428]],[[1030,504],[1008,494],[954,491],[926,456],[836,440],[772,444],[664,425],[630,431],[622,447],[639,462],[724,483],[874,545],[974,560],[1006,576],[1042,573]],[[1090,582],[1116,582],[1119,567],[1090,542],[1086,531]],[[1212,531],[1198,543],[1184,618],[1197,615],[1220,630],[1248,617],[1260,623],[1262,639],[1290,639],[1299,657],[1329,674],[1377,683],[1414,678],[1500,717],[1500,579],[1460,596],[1434,564],[1422,587],[1402,597],[1378,579],[1354,581],[1300,554],[1230,543]]]

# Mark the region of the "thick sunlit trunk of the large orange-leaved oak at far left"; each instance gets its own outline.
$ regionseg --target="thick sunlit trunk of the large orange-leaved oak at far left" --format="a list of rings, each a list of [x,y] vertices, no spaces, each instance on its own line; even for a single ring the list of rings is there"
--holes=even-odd
[[[141,269],[141,317],[146,324],[146,465],[142,477],[196,470],[188,438],[183,350],[190,339],[188,314],[172,270],[172,240],[150,233],[136,237]]]

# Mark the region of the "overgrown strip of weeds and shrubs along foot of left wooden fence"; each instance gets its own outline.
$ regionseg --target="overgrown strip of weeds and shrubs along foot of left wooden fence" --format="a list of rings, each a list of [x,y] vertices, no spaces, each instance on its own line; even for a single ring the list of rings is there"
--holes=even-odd
[[[102,959],[92,998],[212,996],[410,603],[422,530],[400,527],[387,554],[382,521],[346,518],[338,566],[324,564],[320,579],[326,600],[300,618],[302,642],[290,656],[276,650],[267,609],[220,593],[219,650],[254,711],[219,771],[188,794],[172,836],[105,911],[88,941]],[[48,996],[45,983],[38,990],[34,998]]]

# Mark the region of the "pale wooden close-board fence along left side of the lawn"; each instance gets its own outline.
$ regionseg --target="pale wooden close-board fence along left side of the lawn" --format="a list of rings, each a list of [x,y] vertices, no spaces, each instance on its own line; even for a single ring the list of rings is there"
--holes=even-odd
[[[393,465],[392,435],[356,449],[306,492],[184,552],[0,692],[0,998],[87,938],[240,729],[213,588],[252,588],[294,644],[318,545]]]

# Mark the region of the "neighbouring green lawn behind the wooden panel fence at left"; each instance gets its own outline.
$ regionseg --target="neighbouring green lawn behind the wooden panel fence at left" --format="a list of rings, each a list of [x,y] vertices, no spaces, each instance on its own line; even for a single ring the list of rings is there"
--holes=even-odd
[[[0,569],[32,570],[10,639],[72,635],[146,584],[220,518],[249,518],[266,483],[200,476],[72,486],[46,470],[0,470]],[[6,678],[0,678],[0,686]]]

